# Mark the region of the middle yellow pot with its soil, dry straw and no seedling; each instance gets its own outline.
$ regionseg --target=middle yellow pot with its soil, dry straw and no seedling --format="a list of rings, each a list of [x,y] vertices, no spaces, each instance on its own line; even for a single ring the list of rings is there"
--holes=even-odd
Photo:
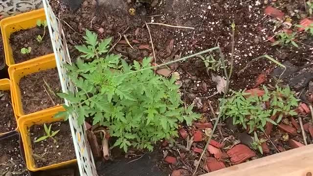
[[[15,112],[18,117],[30,113],[41,113],[40,111],[42,110],[51,109],[63,104],[64,100],[56,95],[56,93],[61,91],[61,86],[54,54],[21,64],[15,64],[10,66],[8,71],[12,83]],[[47,73],[46,71],[52,71],[53,75],[50,74],[51,72]],[[45,73],[45,75],[40,75],[41,73]],[[33,74],[39,75],[33,78]],[[21,84],[22,79],[30,81]],[[55,87],[58,90],[55,90]],[[25,92],[22,88],[24,90],[28,88],[28,91]],[[29,101],[26,103],[23,102],[26,100]]]

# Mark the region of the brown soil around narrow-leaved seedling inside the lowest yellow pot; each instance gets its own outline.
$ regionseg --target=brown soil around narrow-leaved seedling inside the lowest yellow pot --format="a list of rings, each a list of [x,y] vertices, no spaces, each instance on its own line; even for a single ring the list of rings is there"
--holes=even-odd
[[[56,143],[51,138],[38,143],[33,142],[39,137],[46,135],[44,125],[33,125],[29,129],[33,157],[37,167],[49,166],[76,158],[68,122],[46,124],[48,128],[50,125],[51,133],[60,130],[54,136]]]

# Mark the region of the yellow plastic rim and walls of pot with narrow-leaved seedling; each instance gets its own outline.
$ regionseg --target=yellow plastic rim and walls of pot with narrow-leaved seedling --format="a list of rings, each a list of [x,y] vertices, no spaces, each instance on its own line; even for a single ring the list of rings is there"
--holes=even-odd
[[[64,110],[65,109],[62,106],[59,106],[56,108],[41,111],[40,113],[32,113],[29,115],[25,115],[19,119],[18,124],[20,127],[21,136],[22,136],[23,146],[25,150],[26,166],[28,170],[35,172],[35,171],[45,171],[48,169],[62,168],[62,167],[66,167],[67,165],[73,164],[77,161],[76,159],[73,159],[70,161],[65,161],[65,162],[53,164],[50,166],[37,168],[35,164],[35,160],[33,158],[33,150],[31,148],[32,143],[31,143],[28,129],[34,124],[41,125],[44,123],[63,121],[63,118],[55,118],[54,115]]]

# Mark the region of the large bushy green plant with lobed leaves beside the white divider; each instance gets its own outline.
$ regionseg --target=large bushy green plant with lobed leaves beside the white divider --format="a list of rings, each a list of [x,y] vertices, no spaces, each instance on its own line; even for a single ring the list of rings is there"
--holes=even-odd
[[[71,106],[57,116],[75,111],[79,124],[90,118],[93,125],[105,126],[117,138],[113,146],[125,152],[130,147],[151,151],[157,141],[178,135],[178,123],[191,125],[200,118],[193,105],[182,107],[175,77],[166,79],[149,69],[151,58],[130,66],[121,55],[108,54],[111,38],[98,41],[86,30],[84,39],[86,44],[76,46],[83,54],[75,65],[66,65],[78,92],[58,93]]]

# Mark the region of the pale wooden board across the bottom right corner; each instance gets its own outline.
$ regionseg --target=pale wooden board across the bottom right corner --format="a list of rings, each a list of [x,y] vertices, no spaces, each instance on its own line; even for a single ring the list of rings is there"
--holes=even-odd
[[[313,176],[313,144],[201,176]]]

